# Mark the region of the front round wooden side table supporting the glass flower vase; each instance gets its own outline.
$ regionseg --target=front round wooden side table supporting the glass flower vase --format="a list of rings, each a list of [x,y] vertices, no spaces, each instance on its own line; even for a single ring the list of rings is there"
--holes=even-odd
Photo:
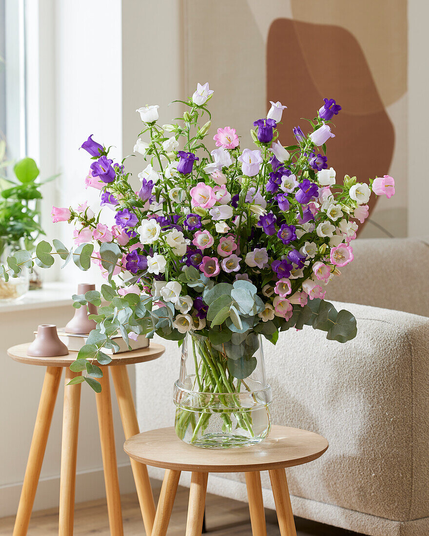
[[[313,432],[273,426],[259,445],[242,449],[203,449],[188,445],[174,428],[160,428],[130,437],[124,450],[142,464],[166,469],[152,536],[165,536],[181,471],[191,471],[186,536],[201,536],[209,473],[246,474],[253,536],[267,536],[260,471],[269,471],[282,536],[296,536],[285,467],[322,456],[327,440]]]

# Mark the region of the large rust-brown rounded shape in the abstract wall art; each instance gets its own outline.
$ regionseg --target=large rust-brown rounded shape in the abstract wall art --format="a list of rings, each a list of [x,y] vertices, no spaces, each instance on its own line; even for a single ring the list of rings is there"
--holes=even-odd
[[[336,137],[327,142],[328,167],[336,170],[337,181],[347,174],[368,182],[369,177],[388,173],[394,128],[363,51],[349,31],[291,19],[273,21],[267,42],[267,96],[288,107],[278,127],[284,145],[293,143],[294,126],[308,132],[310,125],[301,118],[313,118],[324,97],[335,99],[343,107],[332,119]],[[351,102],[353,113],[347,110]],[[375,202],[373,196],[370,214]]]

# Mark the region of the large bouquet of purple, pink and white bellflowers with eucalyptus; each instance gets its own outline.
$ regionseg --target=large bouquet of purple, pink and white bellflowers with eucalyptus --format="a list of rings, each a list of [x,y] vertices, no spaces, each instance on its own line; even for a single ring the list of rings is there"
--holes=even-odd
[[[125,341],[157,333],[179,345],[188,333],[196,356],[192,386],[233,397],[257,366],[260,335],[275,344],[280,331],[307,324],[340,343],[356,336],[356,319],[323,300],[325,287],[353,260],[351,243],[368,216],[369,196],[393,195],[393,178],[368,185],[346,175],[336,182],[326,157],[335,137],[331,120],[341,111],[333,99],[324,99],[308,121],[310,132],[293,128],[291,145],[278,139],[286,108],[280,102],[253,122],[253,148],[241,148],[230,126],[205,143],[212,93],[209,84],[198,84],[191,98],[176,101],[186,111],[172,124],[158,124],[158,106],[137,110],[143,129],[134,152],[146,161],[137,191],[127,159],[114,162],[90,136],[82,145],[93,160],[85,185],[100,190],[100,205],[116,212],[115,225],[103,224],[86,202],[54,207],[55,222],[75,225],[77,248],[54,240],[53,250],[43,241],[35,259],[20,251],[9,270],[3,267],[8,277],[34,260],[50,266],[55,254],[83,270],[100,266],[101,294],[75,296],[75,307],[99,306],[101,297],[108,305],[93,316],[97,330],[71,367],[86,371],[75,380],[95,390],[102,373],[94,362],[110,360],[101,348],[114,346],[118,331]],[[187,413],[176,422],[181,435],[199,423]],[[245,414],[236,416],[239,427],[251,428]],[[230,429],[231,415],[222,419]],[[205,426],[202,419],[198,430]]]

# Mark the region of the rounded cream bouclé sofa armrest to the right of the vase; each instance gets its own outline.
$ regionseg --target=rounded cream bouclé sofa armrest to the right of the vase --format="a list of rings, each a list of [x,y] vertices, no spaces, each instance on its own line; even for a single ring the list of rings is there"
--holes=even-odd
[[[429,319],[334,304],[356,316],[355,339],[304,326],[264,345],[273,422],[330,443],[290,471],[291,493],[387,519],[429,516]]]

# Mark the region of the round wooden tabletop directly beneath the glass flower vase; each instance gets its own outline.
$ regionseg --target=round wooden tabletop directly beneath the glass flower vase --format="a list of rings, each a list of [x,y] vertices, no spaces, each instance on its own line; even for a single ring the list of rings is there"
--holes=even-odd
[[[328,441],[314,432],[272,426],[257,445],[238,449],[205,449],[181,441],[173,427],[150,430],[124,444],[128,456],[143,464],[176,471],[241,473],[306,464],[325,452]]]

